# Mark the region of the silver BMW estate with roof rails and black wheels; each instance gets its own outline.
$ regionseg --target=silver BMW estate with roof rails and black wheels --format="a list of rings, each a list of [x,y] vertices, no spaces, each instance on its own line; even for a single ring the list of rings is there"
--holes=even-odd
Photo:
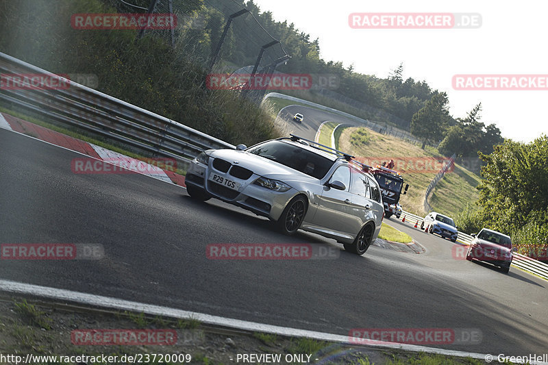
[[[300,228],[362,255],[379,234],[384,209],[377,181],[364,170],[369,166],[352,157],[293,135],[210,149],[190,163],[186,190],[266,216],[284,234]]]

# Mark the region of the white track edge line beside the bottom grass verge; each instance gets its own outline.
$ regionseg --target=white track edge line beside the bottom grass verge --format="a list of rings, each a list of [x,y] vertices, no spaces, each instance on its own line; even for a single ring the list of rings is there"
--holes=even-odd
[[[336,335],[333,333],[325,333],[318,331],[308,331],[306,329],[297,329],[290,327],[280,327],[275,325],[266,325],[264,323],[249,322],[247,320],[238,320],[234,318],[225,318],[221,316],[212,316],[210,314],[189,312],[186,310],[177,310],[170,307],[162,307],[160,305],[151,305],[145,303],[138,303],[135,301],[126,301],[123,299],[116,299],[111,297],[103,297],[101,295],[86,294],[83,292],[73,292],[71,290],[64,290],[58,288],[49,288],[46,286],[37,286],[33,284],[18,283],[16,281],[2,280],[0,279],[0,291],[11,292],[15,294],[33,295],[36,297],[45,297],[48,299],[71,301],[73,303],[82,303],[86,305],[96,305],[99,307],[111,308],[114,310],[129,310],[134,312],[142,312],[155,316],[167,316],[171,318],[194,318],[202,323],[209,325],[218,325],[224,327],[232,327],[236,329],[243,329],[246,331],[260,331],[266,333],[276,333],[281,336],[298,336],[314,338],[316,340],[340,342],[345,344],[351,344],[352,338],[349,336]],[[361,338],[355,340],[360,344],[363,343]],[[458,357],[473,357],[475,359],[484,360],[486,354],[482,353],[469,353],[464,351],[454,351],[446,349],[436,349],[434,347],[423,347],[414,344],[399,344],[395,342],[385,342],[383,344],[367,343],[367,346],[379,347],[383,349],[401,349],[405,351],[422,351],[426,353],[437,353],[440,355],[458,356]]]

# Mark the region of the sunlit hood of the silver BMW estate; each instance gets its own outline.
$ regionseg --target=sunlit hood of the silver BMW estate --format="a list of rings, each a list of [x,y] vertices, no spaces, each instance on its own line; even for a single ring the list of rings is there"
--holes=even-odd
[[[319,181],[319,179],[306,175],[306,173],[301,173],[294,168],[246,151],[218,149],[210,153],[210,156],[212,158],[222,158],[231,164],[238,162],[238,166],[247,168],[253,171],[253,173],[269,179],[286,181],[288,183],[291,181],[314,181],[317,183]]]

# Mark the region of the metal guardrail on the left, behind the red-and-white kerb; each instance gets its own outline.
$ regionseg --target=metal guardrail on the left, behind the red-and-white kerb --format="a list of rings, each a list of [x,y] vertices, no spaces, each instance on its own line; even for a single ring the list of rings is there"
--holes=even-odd
[[[48,75],[51,79],[68,82],[70,85],[64,90],[39,87],[33,90],[0,88],[0,103],[47,116],[49,121],[122,142],[153,156],[162,155],[188,161],[204,149],[236,148],[223,140],[53,75],[5,53],[0,53],[0,73]]]

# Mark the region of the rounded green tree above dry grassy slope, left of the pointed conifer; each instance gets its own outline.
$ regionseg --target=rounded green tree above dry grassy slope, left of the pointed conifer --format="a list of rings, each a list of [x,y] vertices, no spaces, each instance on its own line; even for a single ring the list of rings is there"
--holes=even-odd
[[[451,118],[447,110],[448,102],[447,94],[438,92],[413,115],[411,133],[423,140],[423,149],[427,142],[437,142],[443,138],[443,130],[447,128]]]

